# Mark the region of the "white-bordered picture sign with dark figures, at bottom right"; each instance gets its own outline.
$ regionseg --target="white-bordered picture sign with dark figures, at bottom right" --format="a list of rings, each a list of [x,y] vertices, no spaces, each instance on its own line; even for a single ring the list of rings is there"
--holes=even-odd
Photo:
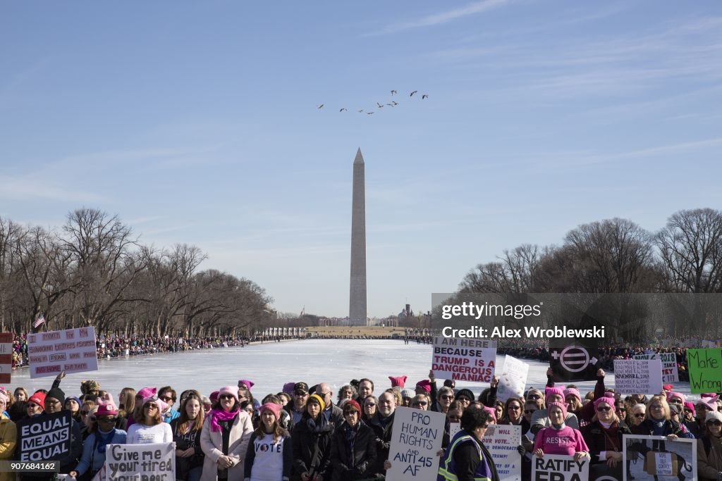
[[[622,460],[625,480],[696,480],[697,440],[625,434]]]

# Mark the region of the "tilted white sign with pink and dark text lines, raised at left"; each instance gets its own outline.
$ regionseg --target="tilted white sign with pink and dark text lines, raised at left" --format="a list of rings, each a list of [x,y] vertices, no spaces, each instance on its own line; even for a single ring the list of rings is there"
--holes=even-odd
[[[95,327],[38,332],[27,336],[30,378],[97,371]]]

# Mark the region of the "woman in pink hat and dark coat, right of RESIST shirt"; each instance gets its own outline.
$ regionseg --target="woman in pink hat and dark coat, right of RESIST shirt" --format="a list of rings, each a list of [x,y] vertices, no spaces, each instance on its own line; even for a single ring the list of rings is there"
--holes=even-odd
[[[624,447],[622,436],[631,434],[632,431],[614,410],[614,398],[600,397],[594,401],[593,406],[596,414],[591,423],[581,429],[591,455],[589,477],[596,479],[606,475],[621,480]]]

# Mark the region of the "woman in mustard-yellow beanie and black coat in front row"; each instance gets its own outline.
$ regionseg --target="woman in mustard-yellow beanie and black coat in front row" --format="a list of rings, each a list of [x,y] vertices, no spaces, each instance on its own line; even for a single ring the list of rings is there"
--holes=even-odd
[[[365,402],[369,402],[368,397]],[[326,470],[331,463],[331,436],[334,434],[334,425],[323,415],[325,404],[319,394],[311,394],[306,402],[306,412],[301,422],[295,425],[291,436],[292,481],[310,481],[314,478],[318,480],[326,477]]]

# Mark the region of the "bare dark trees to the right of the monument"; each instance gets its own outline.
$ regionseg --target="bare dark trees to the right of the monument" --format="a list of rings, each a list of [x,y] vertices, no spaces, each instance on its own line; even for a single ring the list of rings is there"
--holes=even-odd
[[[583,224],[560,245],[521,244],[475,266],[456,296],[519,300],[524,293],[574,294],[567,299],[579,299],[585,315],[596,304],[596,319],[609,320],[612,334],[625,340],[641,340],[656,330],[719,334],[722,296],[690,294],[722,293],[722,211],[678,211],[655,232],[628,219]]]

